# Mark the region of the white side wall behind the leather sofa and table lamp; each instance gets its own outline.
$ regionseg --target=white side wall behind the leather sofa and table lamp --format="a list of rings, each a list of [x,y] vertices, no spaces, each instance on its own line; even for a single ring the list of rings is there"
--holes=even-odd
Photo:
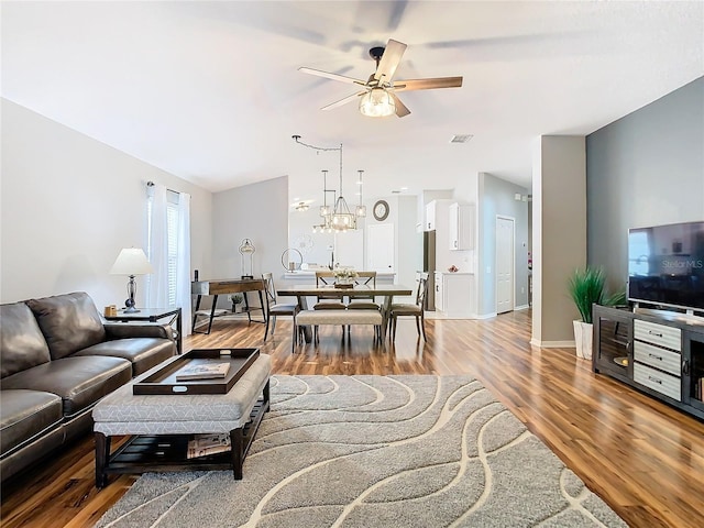
[[[84,290],[98,309],[123,305],[128,279],[108,272],[145,245],[148,180],[191,195],[191,266],[209,268],[209,191],[6,99],[1,111],[0,301]]]

